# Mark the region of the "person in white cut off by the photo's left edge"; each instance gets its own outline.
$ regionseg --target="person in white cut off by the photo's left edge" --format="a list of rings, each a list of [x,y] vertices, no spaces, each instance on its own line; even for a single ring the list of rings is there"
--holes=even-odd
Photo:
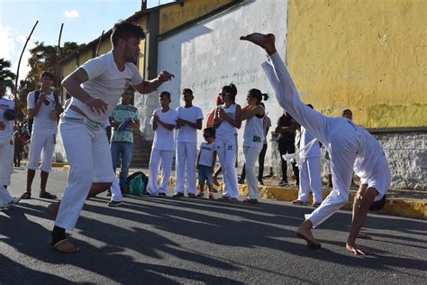
[[[14,172],[14,101],[5,99],[4,95],[5,78],[0,77],[0,208],[10,207],[20,200],[12,198],[6,189],[11,184],[11,175]]]

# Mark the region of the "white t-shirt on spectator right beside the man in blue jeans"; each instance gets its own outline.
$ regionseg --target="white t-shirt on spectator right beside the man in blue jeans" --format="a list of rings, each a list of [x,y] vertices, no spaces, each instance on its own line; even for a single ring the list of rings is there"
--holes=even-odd
[[[159,115],[159,120],[166,124],[177,124],[177,111],[169,109],[168,112],[162,112],[161,108],[154,110],[153,115]],[[151,117],[150,124],[153,124]],[[175,145],[174,131],[168,130],[161,124],[157,124],[157,129],[154,131],[153,150],[173,151]]]

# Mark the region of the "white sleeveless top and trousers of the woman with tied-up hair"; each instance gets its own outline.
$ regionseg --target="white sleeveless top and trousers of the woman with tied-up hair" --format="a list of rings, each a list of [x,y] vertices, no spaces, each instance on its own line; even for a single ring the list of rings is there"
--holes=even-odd
[[[264,116],[254,115],[247,119],[243,133],[243,154],[245,155],[245,170],[250,199],[259,199],[255,164],[259,160],[259,152],[261,152],[265,141]]]

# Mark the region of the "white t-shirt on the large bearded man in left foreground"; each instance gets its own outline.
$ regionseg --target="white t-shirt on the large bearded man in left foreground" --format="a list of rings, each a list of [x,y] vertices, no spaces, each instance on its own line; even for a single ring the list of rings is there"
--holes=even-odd
[[[120,97],[129,85],[135,86],[142,82],[140,71],[132,62],[126,62],[123,71],[117,69],[112,51],[98,58],[87,60],[80,68],[86,70],[89,78],[81,87],[91,97],[100,98],[108,106],[103,115],[98,115],[75,97],[72,99],[72,104],[77,106],[89,119],[100,124],[104,123],[113,113],[114,107],[119,103]]]

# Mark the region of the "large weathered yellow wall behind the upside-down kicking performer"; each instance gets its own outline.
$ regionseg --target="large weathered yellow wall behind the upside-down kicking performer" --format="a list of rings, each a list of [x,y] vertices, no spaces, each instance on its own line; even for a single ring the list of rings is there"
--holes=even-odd
[[[287,63],[304,102],[368,128],[427,126],[427,1],[289,0]]]

